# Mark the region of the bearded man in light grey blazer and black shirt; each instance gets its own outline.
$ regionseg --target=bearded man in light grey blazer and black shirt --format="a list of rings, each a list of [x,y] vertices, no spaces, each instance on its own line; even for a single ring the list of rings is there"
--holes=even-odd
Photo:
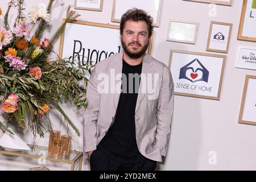
[[[84,122],[91,170],[155,170],[166,155],[174,84],[170,69],[145,54],[152,29],[150,15],[128,10],[120,24],[123,52],[93,69]]]

